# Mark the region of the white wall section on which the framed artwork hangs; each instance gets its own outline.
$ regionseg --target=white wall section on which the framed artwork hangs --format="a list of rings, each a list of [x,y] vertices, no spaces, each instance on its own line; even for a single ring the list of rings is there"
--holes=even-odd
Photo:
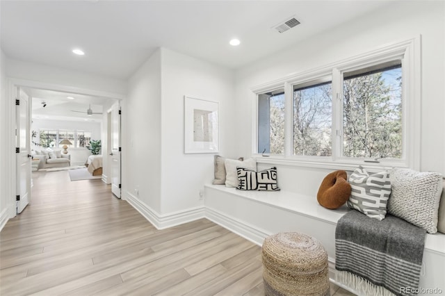
[[[184,154],[184,96],[219,104],[219,154],[239,157],[232,115],[234,72],[170,49],[162,60],[162,205],[161,213],[203,205],[200,190],[213,179],[215,154]]]

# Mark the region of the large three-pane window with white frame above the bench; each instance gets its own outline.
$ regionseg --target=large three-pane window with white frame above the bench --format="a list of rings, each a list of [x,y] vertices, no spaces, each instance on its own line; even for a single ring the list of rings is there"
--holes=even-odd
[[[254,153],[272,156],[259,161],[419,168],[419,48],[407,40],[252,88]]]

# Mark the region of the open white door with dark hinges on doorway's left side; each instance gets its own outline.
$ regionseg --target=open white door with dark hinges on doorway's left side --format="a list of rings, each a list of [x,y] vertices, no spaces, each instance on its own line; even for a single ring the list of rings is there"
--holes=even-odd
[[[31,202],[31,98],[15,88],[16,105],[16,200],[17,214]]]

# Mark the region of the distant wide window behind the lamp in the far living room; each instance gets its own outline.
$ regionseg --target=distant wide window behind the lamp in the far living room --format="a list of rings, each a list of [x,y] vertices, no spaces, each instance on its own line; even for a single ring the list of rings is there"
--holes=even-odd
[[[90,144],[91,132],[90,131],[72,131],[72,130],[56,130],[56,129],[40,129],[40,146],[47,147],[59,147],[59,142],[63,139],[70,140],[72,145],[67,147],[86,147]],[[74,140],[76,139],[76,140]]]

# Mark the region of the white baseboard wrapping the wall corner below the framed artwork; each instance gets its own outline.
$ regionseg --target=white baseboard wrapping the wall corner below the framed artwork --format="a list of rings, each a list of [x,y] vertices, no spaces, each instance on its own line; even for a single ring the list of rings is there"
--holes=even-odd
[[[149,220],[156,229],[166,229],[204,218],[204,206],[188,208],[184,211],[174,213],[159,214],[128,191],[123,193],[124,200],[127,200],[133,208],[136,208],[136,211],[143,215],[145,219]]]

